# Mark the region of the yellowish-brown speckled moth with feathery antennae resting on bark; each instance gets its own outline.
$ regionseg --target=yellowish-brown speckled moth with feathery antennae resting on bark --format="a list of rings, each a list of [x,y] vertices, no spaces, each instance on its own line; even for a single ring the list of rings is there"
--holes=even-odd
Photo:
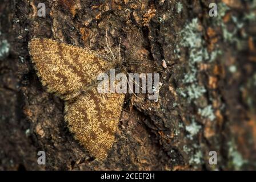
[[[134,35],[127,60],[115,58],[108,43],[113,57],[45,38],[31,39],[28,45],[42,85],[65,101],[64,118],[69,130],[99,160],[107,157],[113,145],[125,94],[98,93],[97,76],[111,68],[127,73],[129,65],[162,71],[153,61],[134,59],[142,46],[143,34],[139,30]]]

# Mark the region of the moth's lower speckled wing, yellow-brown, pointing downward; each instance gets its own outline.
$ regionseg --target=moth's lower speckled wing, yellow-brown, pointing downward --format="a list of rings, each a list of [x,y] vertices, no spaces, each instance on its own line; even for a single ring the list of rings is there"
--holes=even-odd
[[[106,158],[114,142],[124,99],[125,94],[99,94],[93,88],[74,103],[65,104],[70,130],[99,160]]]

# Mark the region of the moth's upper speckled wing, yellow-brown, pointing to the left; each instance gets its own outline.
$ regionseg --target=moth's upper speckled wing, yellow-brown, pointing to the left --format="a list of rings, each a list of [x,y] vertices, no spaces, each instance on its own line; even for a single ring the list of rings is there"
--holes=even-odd
[[[108,66],[95,51],[51,39],[30,40],[29,53],[42,85],[63,100],[77,96]]]

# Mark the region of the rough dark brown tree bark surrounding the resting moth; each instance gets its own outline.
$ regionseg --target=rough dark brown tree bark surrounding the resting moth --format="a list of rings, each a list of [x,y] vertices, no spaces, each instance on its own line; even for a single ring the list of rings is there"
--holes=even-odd
[[[215,1],[217,17],[205,0],[0,2],[0,169],[256,169],[255,1]],[[126,97],[115,143],[98,162],[67,129],[63,101],[42,87],[27,43],[51,38],[107,53],[107,27],[125,59],[134,26],[145,36],[138,53],[167,68],[157,102]]]

